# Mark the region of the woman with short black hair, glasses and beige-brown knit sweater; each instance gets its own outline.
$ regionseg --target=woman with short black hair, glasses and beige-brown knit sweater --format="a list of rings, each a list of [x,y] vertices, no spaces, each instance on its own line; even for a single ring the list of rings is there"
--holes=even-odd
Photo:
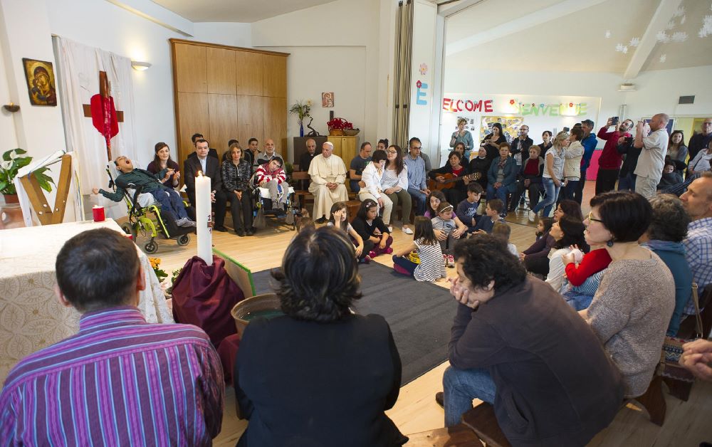
[[[652,219],[644,196],[606,192],[591,199],[587,239],[604,243],[611,263],[580,315],[623,374],[626,397],[645,392],[660,362],[674,308],[674,279],[663,261],[638,245]]]

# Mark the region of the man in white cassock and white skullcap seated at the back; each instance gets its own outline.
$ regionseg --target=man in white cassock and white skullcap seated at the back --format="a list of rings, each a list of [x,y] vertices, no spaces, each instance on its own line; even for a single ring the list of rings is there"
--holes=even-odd
[[[337,201],[347,201],[346,165],[338,155],[333,155],[334,145],[325,142],[320,155],[309,164],[311,184],[309,192],[314,195],[313,219],[328,219],[331,206]]]

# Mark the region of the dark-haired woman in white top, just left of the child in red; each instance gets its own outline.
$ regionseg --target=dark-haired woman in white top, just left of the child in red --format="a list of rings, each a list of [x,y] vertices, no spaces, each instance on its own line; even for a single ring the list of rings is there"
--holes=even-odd
[[[586,229],[583,222],[572,216],[563,215],[555,221],[549,231],[554,238],[554,251],[549,254],[549,273],[546,282],[558,293],[563,292],[565,263],[563,256],[571,253],[572,246],[577,246],[584,253],[588,252],[588,244],[583,237]]]

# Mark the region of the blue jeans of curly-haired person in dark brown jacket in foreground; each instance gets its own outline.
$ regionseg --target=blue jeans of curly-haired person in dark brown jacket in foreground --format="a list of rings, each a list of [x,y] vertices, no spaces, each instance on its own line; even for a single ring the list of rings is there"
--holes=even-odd
[[[493,404],[497,388],[486,369],[448,367],[443,374],[443,390],[445,426],[452,427],[472,409],[472,399]]]

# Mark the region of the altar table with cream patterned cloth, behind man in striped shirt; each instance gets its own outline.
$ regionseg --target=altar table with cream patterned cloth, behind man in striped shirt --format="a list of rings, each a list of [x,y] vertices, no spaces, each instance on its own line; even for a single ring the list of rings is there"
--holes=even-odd
[[[20,359],[78,332],[79,312],[54,294],[54,265],[66,241],[94,228],[123,233],[112,219],[0,231],[0,386]],[[174,322],[148,257],[136,251],[146,280],[139,309],[148,322]]]

